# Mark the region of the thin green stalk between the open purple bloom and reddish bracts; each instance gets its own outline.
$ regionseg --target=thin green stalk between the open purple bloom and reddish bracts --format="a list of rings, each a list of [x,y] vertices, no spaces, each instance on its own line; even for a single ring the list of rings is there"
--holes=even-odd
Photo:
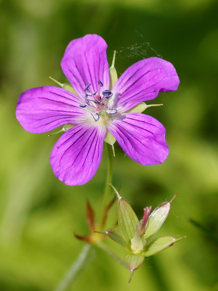
[[[97,231],[101,231],[104,224],[104,214],[105,214],[105,209],[106,209],[106,205],[108,201],[108,196],[111,189],[110,183],[112,182],[112,176],[113,176],[113,152],[109,143],[106,143],[106,146],[107,146],[107,152],[108,152],[108,172],[107,172],[107,178],[106,178],[106,183],[105,183],[105,192],[103,195],[98,225],[96,229]]]

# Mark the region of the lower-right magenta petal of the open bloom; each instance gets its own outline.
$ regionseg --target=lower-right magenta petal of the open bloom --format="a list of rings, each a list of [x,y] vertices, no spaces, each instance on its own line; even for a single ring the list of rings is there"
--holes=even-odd
[[[161,164],[168,156],[165,128],[149,115],[123,113],[107,128],[124,152],[139,164]]]

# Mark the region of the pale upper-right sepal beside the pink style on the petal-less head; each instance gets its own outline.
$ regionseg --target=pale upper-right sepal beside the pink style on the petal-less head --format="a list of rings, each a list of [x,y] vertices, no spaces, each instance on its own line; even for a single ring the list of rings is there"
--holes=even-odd
[[[147,245],[153,240],[161,225],[164,223],[170,211],[170,202],[164,202],[159,205],[154,211],[149,215],[148,227],[145,231],[145,239]]]

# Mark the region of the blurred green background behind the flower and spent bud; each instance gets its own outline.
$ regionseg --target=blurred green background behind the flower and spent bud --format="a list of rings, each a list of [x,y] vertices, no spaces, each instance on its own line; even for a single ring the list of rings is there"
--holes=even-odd
[[[0,290],[54,290],[84,245],[73,233],[88,233],[87,197],[99,210],[105,151],[89,183],[66,186],[49,164],[58,136],[28,133],[15,118],[23,91],[55,85],[49,76],[66,82],[65,48],[88,33],[105,39],[109,64],[117,50],[118,76],[151,56],[176,68],[178,90],[160,93],[148,104],[164,106],[146,111],[166,127],[167,160],[142,166],[116,143],[113,184],[139,217],[143,207],[155,208],[178,192],[161,235],[187,238],[145,260],[130,285],[129,272],[95,250],[69,290],[218,289],[217,11],[213,0],[0,1]],[[115,213],[116,206],[109,223]]]

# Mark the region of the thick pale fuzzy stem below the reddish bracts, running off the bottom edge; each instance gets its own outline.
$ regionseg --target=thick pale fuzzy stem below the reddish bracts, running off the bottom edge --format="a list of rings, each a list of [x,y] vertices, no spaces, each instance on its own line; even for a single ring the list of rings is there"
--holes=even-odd
[[[87,261],[90,259],[90,253],[92,250],[93,247],[91,245],[84,245],[77,260],[74,261],[73,264],[70,266],[69,270],[67,271],[61,282],[57,285],[55,291],[64,291],[69,286],[69,284],[72,284],[73,281],[76,281],[78,274],[81,272],[82,269],[85,269]]]

